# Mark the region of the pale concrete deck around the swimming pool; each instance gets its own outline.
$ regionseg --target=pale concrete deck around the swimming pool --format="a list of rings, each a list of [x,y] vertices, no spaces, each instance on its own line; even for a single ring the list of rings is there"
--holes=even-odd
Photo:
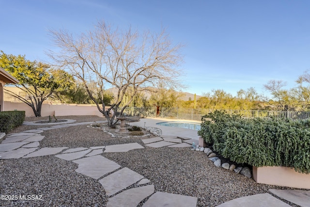
[[[161,129],[162,135],[188,137],[195,140],[199,139],[199,136],[197,134],[198,131],[194,129],[156,125],[156,123],[160,122],[175,122],[175,121],[201,123],[200,121],[184,120],[184,119],[143,118],[140,119],[139,122],[130,123],[130,125],[138,127],[156,127]]]

